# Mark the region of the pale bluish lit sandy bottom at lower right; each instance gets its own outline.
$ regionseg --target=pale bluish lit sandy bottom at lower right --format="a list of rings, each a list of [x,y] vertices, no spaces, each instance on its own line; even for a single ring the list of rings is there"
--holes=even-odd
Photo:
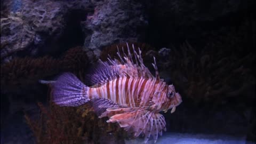
[[[126,140],[126,144],[143,143],[143,139]],[[148,144],[154,143],[154,140],[148,141]],[[228,135],[208,135],[208,134],[187,134],[187,133],[164,133],[159,137],[156,144],[253,144],[255,142],[246,142],[245,137],[231,137]]]

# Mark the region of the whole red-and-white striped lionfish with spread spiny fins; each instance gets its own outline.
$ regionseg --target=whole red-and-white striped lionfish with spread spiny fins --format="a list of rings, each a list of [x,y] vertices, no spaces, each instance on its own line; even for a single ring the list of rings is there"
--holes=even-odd
[[[123,48],[123,47],[122,47]],[[99,118],[108,117],[107,123],[118,123],[136,138],[145,135],[145,143],[150,137],[156,142],[158,134],[166,131],[166,122],[160,111],[175,108],[182,102],[173,85],[167,85],[159,77],[156,59],[153,67],[155,76],[143,64],[141,50],[133,54],[127,44],[123,57],[117,47],[119,60],[99,61],[99,65],[89,75],[92,86],[87,86],[71,73],[64,73],[52,83],[53,101],[59,106],[80,106],[93,102]],[[127,55],[126,55],[127,53]]]

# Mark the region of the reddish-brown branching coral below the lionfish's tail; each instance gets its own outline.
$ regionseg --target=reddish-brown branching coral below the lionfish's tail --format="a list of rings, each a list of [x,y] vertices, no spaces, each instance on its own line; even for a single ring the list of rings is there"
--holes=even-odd
[[[123,143],[124,130],[117,124],[106,123],[106,119],[99,119],[90,103],[59,107],[50,102],[49,110],[42,103],[38,106],[41,109],[38,122],[25,115],[37,143],[102,143],[102,138],[115,140],[109,143]]]

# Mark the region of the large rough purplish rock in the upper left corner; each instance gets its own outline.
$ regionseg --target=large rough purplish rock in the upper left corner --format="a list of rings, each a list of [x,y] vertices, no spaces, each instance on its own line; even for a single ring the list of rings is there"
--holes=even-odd
[[[1,4],[5,12],[1,9],[1,59],[20,51],[35,55],[38,49],[47,49],[47,39],[62,34],[67,13],[90,5],[87,1],[44,0],[1,1]]]

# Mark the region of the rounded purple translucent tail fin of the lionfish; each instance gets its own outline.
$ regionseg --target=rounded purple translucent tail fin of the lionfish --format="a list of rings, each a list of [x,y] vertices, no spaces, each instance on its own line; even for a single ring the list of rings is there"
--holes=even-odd
[[[75,107],[90,100],[87,95],[89,87],[74,74],[64,73],[51,85],[53,101],[57,105]]]

